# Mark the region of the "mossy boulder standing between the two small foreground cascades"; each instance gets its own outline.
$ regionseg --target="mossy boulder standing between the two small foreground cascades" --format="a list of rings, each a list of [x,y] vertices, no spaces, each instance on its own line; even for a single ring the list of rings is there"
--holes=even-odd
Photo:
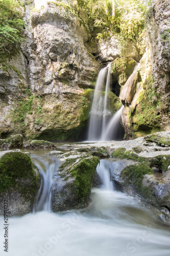
[[[89,153],[72,151],[61,157],[52,188],[54,212],[86,207],[99,158]]]

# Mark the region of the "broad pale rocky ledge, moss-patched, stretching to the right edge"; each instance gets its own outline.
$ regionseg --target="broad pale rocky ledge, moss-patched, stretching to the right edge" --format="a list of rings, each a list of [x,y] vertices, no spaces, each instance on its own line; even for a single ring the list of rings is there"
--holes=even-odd
[[[103,148],[110,156],[110,161],[119,162],[118,168],[111,170],[111,179],[119,184],[120,189],[130,195],[138,194],[146,202],[163,209],[169,215],[169,139],[170,131],[167,131],[129,141],[66,144],[59,148],[77,151],[85,148],[88,152],[93,148],[96,151]]]

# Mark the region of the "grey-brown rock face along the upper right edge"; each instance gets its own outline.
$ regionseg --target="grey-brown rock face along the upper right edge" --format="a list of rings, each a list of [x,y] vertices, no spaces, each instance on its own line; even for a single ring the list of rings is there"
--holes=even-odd
[[[168,0],[152,1],[152,17],[149,19],[149,34],[152,46],[152,74],[155,89],[161,96],[161,127],[169,130],[169,61],[170,61],[170,5]]]

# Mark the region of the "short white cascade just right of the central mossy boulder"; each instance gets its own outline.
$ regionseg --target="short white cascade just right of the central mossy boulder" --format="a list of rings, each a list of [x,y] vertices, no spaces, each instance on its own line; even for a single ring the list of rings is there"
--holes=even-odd
[[[102,159],[100,164],[98,164],[96,171],[103,182],[102,188],[105,190],[113,190],[114,186],[113,182],[110,180],[110,170],[108,163]]]

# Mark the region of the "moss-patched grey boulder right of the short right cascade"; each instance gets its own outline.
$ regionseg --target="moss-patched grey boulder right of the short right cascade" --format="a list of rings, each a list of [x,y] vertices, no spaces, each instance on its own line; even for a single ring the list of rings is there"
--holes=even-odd
[[[129,159],[131,164],[124,168],[116,180],[128,194],[138,194],[145,201],[158,208],[170,208],[170,156],[141,157],[142,147],[117,148],[111,157]],[[156,170],[155,170],[156,169]],[[155,170],[155,172],[154,172]],[[114,173],[114,172],[113,172]],[[113,174],[115,176],[115,173]]]

